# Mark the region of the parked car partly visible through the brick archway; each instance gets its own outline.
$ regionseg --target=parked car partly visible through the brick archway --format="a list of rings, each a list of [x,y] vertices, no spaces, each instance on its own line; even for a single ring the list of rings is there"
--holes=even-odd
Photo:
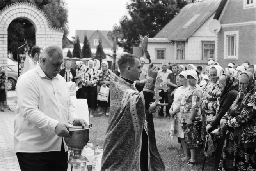
[[[18,63],[8,58],[7,64],[8,69],[7,71],[5,71],[6,73],[8,73],[7,90],[14,90],[18,80]]]

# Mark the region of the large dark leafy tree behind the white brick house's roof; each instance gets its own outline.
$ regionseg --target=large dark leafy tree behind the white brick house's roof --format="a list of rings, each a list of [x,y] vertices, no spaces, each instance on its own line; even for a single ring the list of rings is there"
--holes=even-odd
[[[126,52],[139,45],[139,35],[154,37],[181,8],[195,0],[131,0],[128,14],[120,20],[124,38],[118,44]]]

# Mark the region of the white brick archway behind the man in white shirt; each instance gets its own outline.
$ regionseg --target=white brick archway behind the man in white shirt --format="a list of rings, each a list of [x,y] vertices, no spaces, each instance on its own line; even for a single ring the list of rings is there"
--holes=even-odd
[[[0,63],[7,71],[8,58],[8,27],[9,24],[19,18],[24,18],[30,21],[36,31],[36,45],[45,47],[49,44],[59,45],[62,48],[63,31],[62,28],[53,28],[46,14],[36,5],[31,3],[12,3],[0,11]],[[7,75],[5,81],[7,87]],[[5,90],[7,94],[7,89]],[[5,102],[5,105],[7,103]]]

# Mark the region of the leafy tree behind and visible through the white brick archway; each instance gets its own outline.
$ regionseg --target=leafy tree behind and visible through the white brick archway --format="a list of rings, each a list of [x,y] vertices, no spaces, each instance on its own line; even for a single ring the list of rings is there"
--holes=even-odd
[[[64,37],[68,35],[68,10],[64,0],[0,0],[0,10],[15,2],[35,4],[48,16],[51,26],[63,28]],[[33,36],[35,37],[35,28],[28,20],[12,21],[8,28],[8,50],[13,53],[14,58],[16,58],[16,49],[24,44],[24,39],[27,40],[30,49],[35,45]]]

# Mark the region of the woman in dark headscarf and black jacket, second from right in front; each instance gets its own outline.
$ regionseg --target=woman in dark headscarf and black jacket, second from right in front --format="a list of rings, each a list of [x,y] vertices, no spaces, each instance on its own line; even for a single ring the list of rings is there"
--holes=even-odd
[[[217,129],[220,125],[220,120],[222,117],[228,112],[229,107],[235,101],[237,94],[238,94],[238,80],[229,74],[221,75],[219,79],[219,87],[220,87],[220,99],[219,99],[219,106],[216,110],[216,117],[208,124],[206,127],[207,133]],[[219,162],[222,152],[222,147],[224,145],[224,137],[217,138],[217,148],[215,153],[215,165],[214,171],[217,171],[219,168]]]

